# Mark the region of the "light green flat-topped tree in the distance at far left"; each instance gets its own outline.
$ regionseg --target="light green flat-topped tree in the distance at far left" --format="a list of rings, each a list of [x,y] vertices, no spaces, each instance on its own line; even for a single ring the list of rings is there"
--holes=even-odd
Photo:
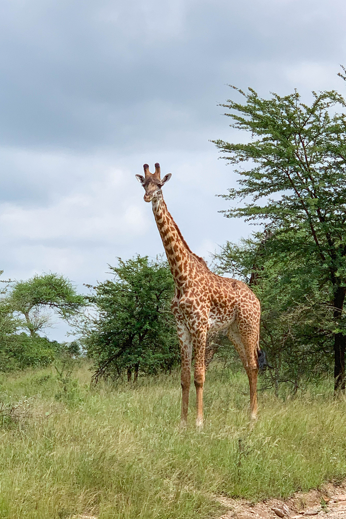
[[[70,280],[52,273],[36,274],[27,281],[16,282],[7,302],[13,311],[24,316],[22,327],[31,335],[49,325],[49,317],[42,311],[44,308],[54,309],[62,319],[67,320],[86,304]]]

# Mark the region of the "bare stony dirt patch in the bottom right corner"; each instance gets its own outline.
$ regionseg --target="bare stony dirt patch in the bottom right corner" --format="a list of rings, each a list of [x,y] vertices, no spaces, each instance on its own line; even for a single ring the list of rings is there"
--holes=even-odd
[[[220,519],[346,519],[346,480],[340,485],[328,483],[320,490],[297,492],[286,500],[266,499],[252,503],[245,499],[215,496],[228,511]]]

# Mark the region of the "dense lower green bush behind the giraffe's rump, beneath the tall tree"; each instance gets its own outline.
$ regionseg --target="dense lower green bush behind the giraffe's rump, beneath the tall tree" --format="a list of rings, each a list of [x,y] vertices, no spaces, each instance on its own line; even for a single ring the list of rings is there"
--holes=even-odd
[[[262,386],[288,383],[297,391],[302,380],[330,371],[333,359],[334,319],[330,285],[319,285],[311,268],[294,255],[275,249],[275,236],[260,234],[227,242],[215,255],[220,274],[226,272],[246,283],[261,301],[260,347],[273,370]]]

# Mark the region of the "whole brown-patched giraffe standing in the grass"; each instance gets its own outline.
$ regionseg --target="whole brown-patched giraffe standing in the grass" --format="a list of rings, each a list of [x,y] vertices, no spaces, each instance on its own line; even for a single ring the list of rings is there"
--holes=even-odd
[[[243,363],[250,385],[250,415],[254,420],[257,414],[256,386],[260,352],[259,301],[245,283],[217,276],[209,270],[203,258],[190,250],[162,196],[161,188],[170,180],[171,173],[161,180],[158,162],[153,174],[147,164],[143,168],[145,176],[135,176],[145,189],[144,200],[153,204],[155,221],[175,284],[171,309],[176,320],[182,357],[181,425],[184,427],[187,422],[193,348],[196,427],[203,426],[205,343],[207,333],[217,330],[226,331]]]

